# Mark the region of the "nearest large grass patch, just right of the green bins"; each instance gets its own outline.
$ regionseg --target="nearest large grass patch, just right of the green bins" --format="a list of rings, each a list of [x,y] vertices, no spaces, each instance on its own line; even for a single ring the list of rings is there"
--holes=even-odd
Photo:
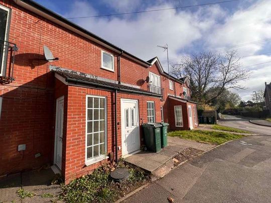
[[[237,135],[228,132],[217,132],[210,130],[181,130],[172,131],[168,133],[168,136],[180,137],[183,139],[191,139],[198,142],[207,142],[210,144],[222,144],[229,140],[239,139],[243,135]]]

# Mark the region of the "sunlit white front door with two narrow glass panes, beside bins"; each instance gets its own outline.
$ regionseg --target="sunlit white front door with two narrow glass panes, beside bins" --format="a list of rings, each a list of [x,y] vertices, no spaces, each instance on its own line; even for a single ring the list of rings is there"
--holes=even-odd
[[[122,156],[140,149],[138,101],[121,99]]]

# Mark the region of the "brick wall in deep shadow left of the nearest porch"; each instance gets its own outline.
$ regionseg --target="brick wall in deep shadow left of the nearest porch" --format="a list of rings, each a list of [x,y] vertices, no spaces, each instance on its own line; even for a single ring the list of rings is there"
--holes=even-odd
[[[47,84],[47,81],[54,81],[53,73],[41,75],[16,88],[4,86],[0,175],[50,163],[55,108],[54,83]],[[19,144],[26,144],[26,150],[18,151]],[[37,153],[41,156],[35,158]]]

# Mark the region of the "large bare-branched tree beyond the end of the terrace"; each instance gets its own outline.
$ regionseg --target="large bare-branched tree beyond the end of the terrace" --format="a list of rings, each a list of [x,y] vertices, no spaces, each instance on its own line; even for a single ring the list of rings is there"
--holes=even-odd
[[[244,89],[238,82],[247,79],[249,72],[241,67],[239,60],[235,50],[224,57],[211,52],[195,54],[182,59],[182,68],[172,66],[171,74],[189,77],[193,99],[211,103],[227,89]],[[210,94],[212,90],[215,91]]]

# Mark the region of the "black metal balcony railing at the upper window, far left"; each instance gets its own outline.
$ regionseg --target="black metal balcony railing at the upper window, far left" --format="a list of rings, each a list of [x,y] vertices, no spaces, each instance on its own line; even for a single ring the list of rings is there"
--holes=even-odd
[[[0,39],[0,83],[10,83],[13,80],[15,52],[18,51],[16,44]],[[7,75],[7,69],[9,74]]]

